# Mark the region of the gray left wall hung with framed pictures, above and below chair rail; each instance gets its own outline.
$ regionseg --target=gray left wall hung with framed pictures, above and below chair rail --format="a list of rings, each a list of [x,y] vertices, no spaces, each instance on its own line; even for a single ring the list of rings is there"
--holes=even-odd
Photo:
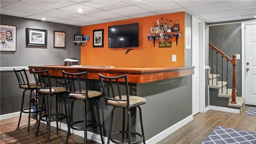
[[[39,65],[62,65],[66,58],[80,59],[80,46],[74,45],[75,34],[80,34],[80,26],[44,22],[27,18],[0,15],[1,24],[16,26],[16,52],[0,52],[1,67],[26,67]],[[47,46],[26,46],[26,28],[47,30]],[[53,47],[55,31],[66,32],[66,47]],[[28,74],[30,82],[34,81]],[[32,81],[33,80],[33,81]],[[0,73],[0,114],[20,111],[23,90],[19,89],[18,80],[13,71]],[[34,96],[34,95],[33,95]],[[26,100],[29,92],[26,92]],[[25,104],[28,106],[28,102]]]

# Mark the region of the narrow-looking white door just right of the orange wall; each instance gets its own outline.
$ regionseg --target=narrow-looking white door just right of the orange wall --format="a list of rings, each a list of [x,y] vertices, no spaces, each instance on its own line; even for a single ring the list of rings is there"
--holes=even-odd
[[[192,66],[194,74],[192,75],[192,114],[193,116],[200,112],[200,22],[192,18]]]

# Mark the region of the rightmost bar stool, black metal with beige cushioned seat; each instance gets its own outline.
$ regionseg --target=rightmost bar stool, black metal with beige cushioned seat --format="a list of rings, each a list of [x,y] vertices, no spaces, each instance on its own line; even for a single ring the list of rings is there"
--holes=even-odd
[[[113,106],[111,111],[110,129],[108,133],[108,144],[110,143],[110,140],[115,144],[138,144],[142,141],[144,144],[146,144],[142,124],[142,112],[140,108],[140,105],[146,103],[146,99],[140,96],[130,96],[127,74],[113,77],[102,76],[101,74],[99,74],[99,76],[105,96],[106,105]],[[123,84],[120,82],[124,82],[125,86],[123,86]],[[138,107],[140,112],[140,126],[142,134],[131,130],[131,108],[136,107]],[[116,108],[123,108],[122,130],[111,134],[114,110]],[[127,109],[128,112],[128,130],[124,130],[125,109]],[[116,138],[114,136],[118,134],[122,134],[122,142],[120,142],[120,140],[114,139]],[[126,134],[126,137],[128,137],[128,142],[127,138],[125,142],[124,134]],[[133,141],[131,140],[132,136],[134,136]],[[139,138],[139,140],[137,140],[137,138]]]

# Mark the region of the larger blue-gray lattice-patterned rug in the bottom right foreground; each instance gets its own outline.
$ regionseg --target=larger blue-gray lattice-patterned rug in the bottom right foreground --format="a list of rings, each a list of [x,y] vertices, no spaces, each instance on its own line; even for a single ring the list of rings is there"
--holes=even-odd
[[[256,144],[256,133],[217,126],[202,144]]]

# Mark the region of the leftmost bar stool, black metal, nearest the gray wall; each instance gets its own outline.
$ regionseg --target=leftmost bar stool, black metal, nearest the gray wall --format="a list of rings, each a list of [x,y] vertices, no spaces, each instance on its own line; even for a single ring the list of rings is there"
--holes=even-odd
[[[38,107],[37,107],[38,106],[38,104],[37,104],[37,102],[38,102],[37,101],[37,97],[36,97],[36,106],[35,107],[31,106],[32,92],[33,92],[33,90],[36,90],[36,83],[29,83],[28,76],[27,76],[25,68],[22,69],[22,70],[16,70],[14,68],[13,71],[16,74],[16,77],[18,79],[18,83],[19,83],[20,88],[24,89],[23,96],[22,96],[22,102],[21,102],[21,108],[20,108],[20,118],[19,118],[19,122],[18,122],[17,128],[19,128],[19,126],[20,126],[20,119],[21,119],[21,115],[22,115],[22,112],[23,112],[23,113],[28,114],[28,131],[29,131],[29,127],[30,127],[30,114],[36,113],[36,122],[38,122],[37,115],[38,115],[38,112],[40,112],[40,110],[38,110]],[[25,97],[26,90],[30,90],[29,107],[28,108],[23,108],[24,97]],[[34,108],[36,108],[36,111],[35,112],[31,111],[31,109],[34,109]]]

